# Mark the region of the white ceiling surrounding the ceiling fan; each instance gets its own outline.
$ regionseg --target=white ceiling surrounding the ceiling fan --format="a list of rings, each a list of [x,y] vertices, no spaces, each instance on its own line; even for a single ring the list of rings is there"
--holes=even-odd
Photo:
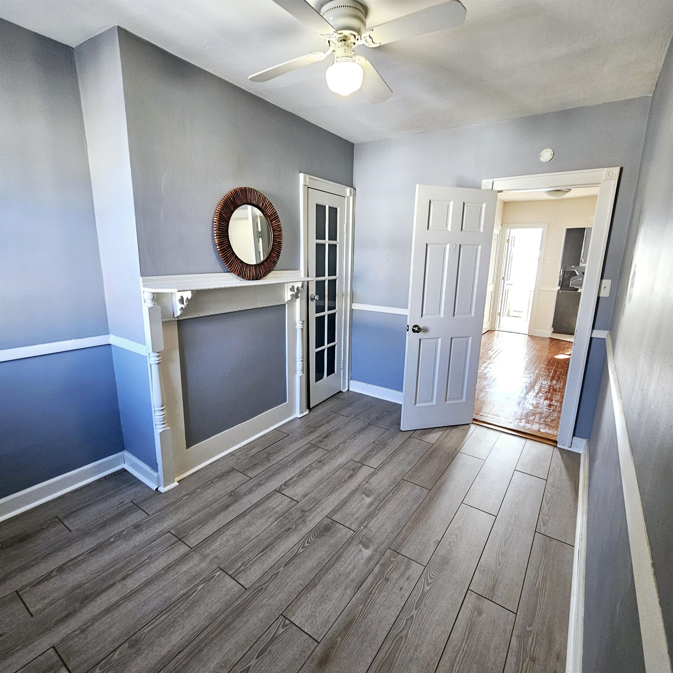
[[[671,0],[462,2],[458,28],[359,48],[394,92],[379,105],[332,94],[324,62],[250,83],[324,48],[273,0],[0,0],[0,16],[71,46],[118,24],[354,142],[648,96],[673,32]],[[367,24],[435,3],[365,0]]]

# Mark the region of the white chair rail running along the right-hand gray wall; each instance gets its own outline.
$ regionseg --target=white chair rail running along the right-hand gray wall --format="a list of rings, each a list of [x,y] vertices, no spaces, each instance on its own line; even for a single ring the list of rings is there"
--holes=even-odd
[[[657,581],[654,576],[652,557],[649,550],[649,538],[643,516],[643,503],[638,488],[631,441],[627,421],[622,406],[617,370],[612,353],[612,339],[606,336],[605,347],[610,376],[610,393],[614,409],[614,425],[617,435],[619,467],[622,475],[624,506],[627,515],[627,530],[631,548],[631,565],[633,565],[633,583],[635,598],[638,605],[640,635],[643,640],[643,658],[647,673],[671,673],[671,662],[668,657],[668,643],[664,630],[664,617],[659,602]]]

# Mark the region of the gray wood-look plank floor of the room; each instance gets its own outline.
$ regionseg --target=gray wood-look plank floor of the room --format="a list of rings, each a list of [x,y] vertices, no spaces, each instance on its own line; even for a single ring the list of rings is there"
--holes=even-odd
[[[0,522],[0,672],[565,670],[579,456],[347,392]]]

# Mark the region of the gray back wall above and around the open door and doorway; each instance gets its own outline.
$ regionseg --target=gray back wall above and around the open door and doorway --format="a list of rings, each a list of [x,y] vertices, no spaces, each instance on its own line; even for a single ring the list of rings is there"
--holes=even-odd
[[[599,299],[594,324],[609,328],[648,110],[649,98],[637,98],[356,145],[353,301],[406,308],[416,184],[479,188],[485,178],[623,166],[603,274],[613,281],[612,296]],[[538,159],[544,147],[555,151],[549,164]],[[380,334],[374,324],[367,334],[383,343],[388,327],[381,325]],[[354,337],[353,360],[371,348]],[[396,367],[402,371],[403,358]],[[594,390],[601,373],[602,364],[588,371]],[[369,383],[376,372],[371,368],[359,376]],[[591,396],[583,403],[590,399],[593,404]],[[586,436],[587,425],[590,429],[585,420],[581,427]]]

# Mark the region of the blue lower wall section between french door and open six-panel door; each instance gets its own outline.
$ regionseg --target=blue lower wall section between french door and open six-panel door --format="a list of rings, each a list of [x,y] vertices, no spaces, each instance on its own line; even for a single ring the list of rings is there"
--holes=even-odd
[[[406,316],[353,311],[351,379],[402,390]]]

